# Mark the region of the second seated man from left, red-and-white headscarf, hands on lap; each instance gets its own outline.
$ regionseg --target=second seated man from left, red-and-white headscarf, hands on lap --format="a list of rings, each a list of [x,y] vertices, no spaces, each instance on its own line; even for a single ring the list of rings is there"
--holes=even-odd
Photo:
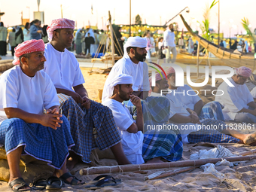
[[[75,142],[72,148],[75,154],[68,161],[68,167],[72,169],[80,159],[90,163],[94,148],[111,148],[118,164],[128,164],[111,110],[89,99],[78,60],[66,49],[72,44],[74,28],[73,20],[53,20],[47,28],[50,42],[45,45],[44,52],[47,59],[44,72],[59,93],[60,109],[69,120]]]

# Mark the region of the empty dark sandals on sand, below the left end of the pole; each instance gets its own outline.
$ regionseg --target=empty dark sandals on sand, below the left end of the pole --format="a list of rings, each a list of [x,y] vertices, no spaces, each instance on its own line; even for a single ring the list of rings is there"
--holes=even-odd
[[[121,182],[121,179],[115,179],[111,175],[99,175],[87,184],[85,188],[94,190],[102,187],[119,187]]]

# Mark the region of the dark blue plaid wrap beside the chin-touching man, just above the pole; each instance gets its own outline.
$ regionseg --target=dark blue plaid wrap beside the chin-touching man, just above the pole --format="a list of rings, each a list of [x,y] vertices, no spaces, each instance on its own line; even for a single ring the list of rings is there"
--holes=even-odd
[[[148,130],[144,134],[142,157],[145,161],[154,157],[163,157],[169,161],[180,160],[182,152],[181,135],[174,130]]]

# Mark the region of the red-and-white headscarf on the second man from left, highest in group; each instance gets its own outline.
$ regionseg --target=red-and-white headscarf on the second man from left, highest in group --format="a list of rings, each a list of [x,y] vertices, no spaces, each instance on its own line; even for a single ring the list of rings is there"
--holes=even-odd
[[[55,31],[56,29],[75,29],[75,21],[65,18],[52,20],[50,26],[47,27],[47,35],[49,41],[52,40],[53,31]]]

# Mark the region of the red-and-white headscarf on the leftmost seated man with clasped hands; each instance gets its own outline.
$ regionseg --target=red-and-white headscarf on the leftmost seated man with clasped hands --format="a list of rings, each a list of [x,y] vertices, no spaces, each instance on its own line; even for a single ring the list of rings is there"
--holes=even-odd
[[[18,44],[18,46],[14,49],[14,65],[20,65],[19,57],[26,53],[33,53],[37,51],[44,51],[44,41],[43,40],[29,40],[24,41],[22,44]]]

